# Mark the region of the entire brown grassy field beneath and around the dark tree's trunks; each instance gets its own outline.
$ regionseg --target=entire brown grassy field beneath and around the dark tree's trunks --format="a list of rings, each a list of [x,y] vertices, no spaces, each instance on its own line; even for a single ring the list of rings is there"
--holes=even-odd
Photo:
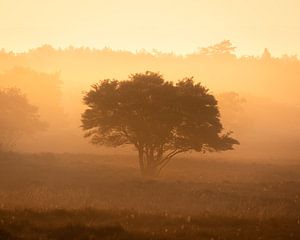
[[[2,154],[0,239],[300,239],[300,164]]]

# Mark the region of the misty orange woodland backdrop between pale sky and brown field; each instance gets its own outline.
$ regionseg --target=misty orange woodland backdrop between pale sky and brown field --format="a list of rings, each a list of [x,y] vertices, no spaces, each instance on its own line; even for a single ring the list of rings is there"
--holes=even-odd
[[[16,150],[94,152],[83,138],[82,96],[106,78],[127,79],[147,70],[177,81],[193,76],[217,97],[221,120],[241,145],[224,158],[287,161],[300,156],[300,60],[297,56],[236,56],[229,41],[181,56],[173,53],[90,48],[55,49],[44,45],[24,53],[0,51],[0,87],[19,88],[39,109],[46,131],[24,136]],[[126,150],[126,151],[125,151]],[[130,153],[132,149],[123,149]]]

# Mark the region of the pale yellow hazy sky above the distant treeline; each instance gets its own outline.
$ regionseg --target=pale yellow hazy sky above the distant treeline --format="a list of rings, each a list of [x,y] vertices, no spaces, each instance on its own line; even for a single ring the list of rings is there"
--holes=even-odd
[[[229,39],[239,54],[300,55],[300,0],[0,0],[0,49],[157,49]]]

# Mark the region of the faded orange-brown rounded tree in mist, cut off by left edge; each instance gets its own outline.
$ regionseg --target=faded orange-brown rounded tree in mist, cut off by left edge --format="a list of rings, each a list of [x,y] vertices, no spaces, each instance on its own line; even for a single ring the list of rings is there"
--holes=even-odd
[[[19,89],[0,89],[0,152],[9,151],[23,135],[45,130],[38,109]]]

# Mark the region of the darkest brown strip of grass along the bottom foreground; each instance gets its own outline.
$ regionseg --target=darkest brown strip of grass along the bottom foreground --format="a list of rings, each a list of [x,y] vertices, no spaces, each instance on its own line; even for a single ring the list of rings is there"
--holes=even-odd
[[[1,211],[0,239],[299,239],[296,219],[172,217],[133,211]],[[299,220],[298,220],[299,221]]]

